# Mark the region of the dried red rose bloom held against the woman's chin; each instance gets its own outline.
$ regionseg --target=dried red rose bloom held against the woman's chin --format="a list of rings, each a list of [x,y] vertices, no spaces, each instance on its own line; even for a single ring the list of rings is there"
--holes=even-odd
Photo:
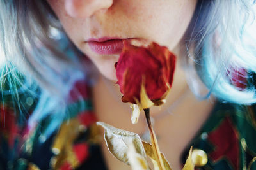
[[[172,85],[175,60],[168,48],[157,43],[145,48],[125,41],[115,64],[118,85],[124,94],[122,101],[140,104],[144,93],[152,101],[151,105],[162,104]]]

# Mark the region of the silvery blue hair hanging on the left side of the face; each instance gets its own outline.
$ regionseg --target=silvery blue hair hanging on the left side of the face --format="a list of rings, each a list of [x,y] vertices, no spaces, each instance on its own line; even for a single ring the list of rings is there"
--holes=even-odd
[[[87,76],[79,64],[81,54],[68,40],[47,1],[1,0],[0,27],[4,57],[1,105],[12,104],[17,117],[26,119],[28,111],[21,96],[32,96],[37,104],[29,127],[33,129],[43,118],[51,117],[47,138],[68,117],[67,99],[74,83]]]

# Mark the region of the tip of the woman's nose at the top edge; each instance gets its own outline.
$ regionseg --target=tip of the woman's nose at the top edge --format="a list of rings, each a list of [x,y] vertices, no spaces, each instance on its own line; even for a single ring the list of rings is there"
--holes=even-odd
[[[96,11],[108,9],[112,4],[113,0],[65,0],[65,10],[71,17],[86,18]]]

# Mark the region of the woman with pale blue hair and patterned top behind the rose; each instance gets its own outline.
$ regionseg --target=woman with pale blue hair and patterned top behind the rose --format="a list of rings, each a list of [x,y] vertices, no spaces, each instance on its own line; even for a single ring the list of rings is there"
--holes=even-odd
[[[180,169],[180,157],[191,145],[207,152],[209,161],[203,168],[253,167],[252,106],[248,107],[252,114],[245,114],[243,106],[218,102],[256,101],[255,42],[245,30],[252,4],[2,0],[0,37],[6,57],[1,76],[2,167],[129,169],[110,156],[102,141],[102,153],[93,143],[95,115],[115,127],[146,134],[143,118],[131,125],[129,104],[118,100],[113,66],[122,41],[142,45],[156,41],[177,55],[166,104],[151,111],[160,148],[173,169]],[[102,75],[96,76],[87,57]],[[208,99],[211,93],[215,97]],[[219,112],[223,114],[213,114]]]

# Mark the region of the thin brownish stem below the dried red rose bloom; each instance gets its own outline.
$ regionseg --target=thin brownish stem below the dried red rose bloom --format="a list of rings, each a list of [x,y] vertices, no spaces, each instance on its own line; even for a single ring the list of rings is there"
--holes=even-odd
[[[153,127],[152,127],[152,124],[151,124],[149,111],[150,111],[149,108],[144,109],[147,124],[148,124],[148,129],[149,129],[149,132],[150,132],[150,140],[151,140],[151,143],[152,143],[153,152],[154,152],[154,155],[156,156],[156,162],[159,166],[159,169],[164,170],[165,168],[164,168],[163,159],[161,157],[161,153],[160,153],[159,146],[158,146],[158,143],[157,143],[156,134],[155,134],[155,132],[153,130]]]

